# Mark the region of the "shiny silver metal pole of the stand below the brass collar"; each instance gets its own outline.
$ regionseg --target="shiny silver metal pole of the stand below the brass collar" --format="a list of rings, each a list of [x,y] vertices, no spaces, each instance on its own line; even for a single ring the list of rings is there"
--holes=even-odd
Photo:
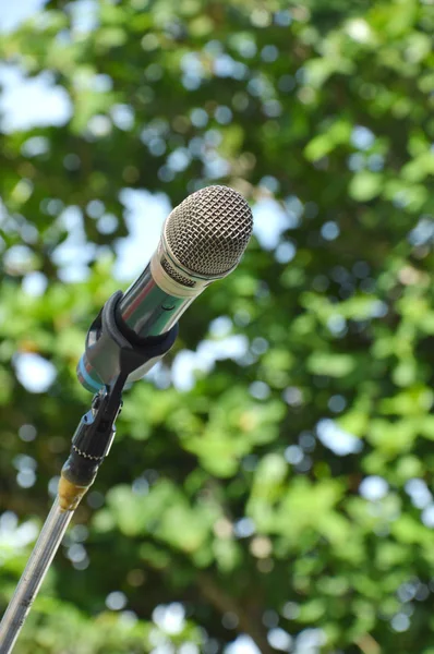
[[[73,510],[62,509],[59,498],[56,498],[0,623],[0,654],[9,654],[12,651],[73,513]]]

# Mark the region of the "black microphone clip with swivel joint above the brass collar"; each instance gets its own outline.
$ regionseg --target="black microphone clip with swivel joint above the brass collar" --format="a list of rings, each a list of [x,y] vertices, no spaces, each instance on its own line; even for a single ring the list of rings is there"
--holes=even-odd
[[[98,364],[98,376],[105,384],[94,396],[89,411],[82,416],[72,437],[70,456],[62,468],[62,477],[74,486],[88,487],[109,453],[129,375],[152,359],[166,354],[178,335],[178,325],[174,325],[160,337],[131,342],[116,319],[121,296],[122,291],[118,291],[106,302],[86,339],[87,361]]]

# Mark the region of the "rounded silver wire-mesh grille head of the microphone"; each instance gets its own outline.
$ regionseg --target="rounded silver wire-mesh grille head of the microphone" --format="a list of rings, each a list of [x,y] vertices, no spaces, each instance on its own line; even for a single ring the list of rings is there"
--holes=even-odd
[[[206,186],[172,210],[166,238],[182,266],[198,275],[219,276],[238,264],[252,228],[252,211],[240,193]]]

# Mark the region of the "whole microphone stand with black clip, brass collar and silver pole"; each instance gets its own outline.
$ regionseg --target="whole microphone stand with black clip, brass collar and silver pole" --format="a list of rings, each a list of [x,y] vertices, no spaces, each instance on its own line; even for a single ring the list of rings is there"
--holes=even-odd
[[[110,451],[114,422],[122,407],[122,390],[129,375],[154,358],[162,356],[173,344],[178,325],[161,335],[132,343],[119,330],[116,307],[121,292],[114,293],[100,312],[100,335],[117,356],[117,375],[94,396],[72,437],[71,451],[59,481],[58,494],[35,547],[0,623],[0,654],[9,654],[19,637],[32,604],[82,497],[94,483],[98,469]],[[95,323],[91,327],[95,327]]]

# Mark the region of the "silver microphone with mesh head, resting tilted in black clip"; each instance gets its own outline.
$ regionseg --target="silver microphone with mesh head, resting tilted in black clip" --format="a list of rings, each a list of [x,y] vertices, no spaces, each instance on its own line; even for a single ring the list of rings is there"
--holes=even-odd
[[[252,211],[233,189],[213,185],[189,195],[167,217],[142,275],[108,301],[111,318],[105,318],[106,304],[91,326],[77,365],[80,383],[96,392],[116,377],[105,334],[113,329],[126,346],[147,348],[147,361],[126,382],[143,377],[174,342],[178,320],[193,300],[237,267],[252,229]]]

